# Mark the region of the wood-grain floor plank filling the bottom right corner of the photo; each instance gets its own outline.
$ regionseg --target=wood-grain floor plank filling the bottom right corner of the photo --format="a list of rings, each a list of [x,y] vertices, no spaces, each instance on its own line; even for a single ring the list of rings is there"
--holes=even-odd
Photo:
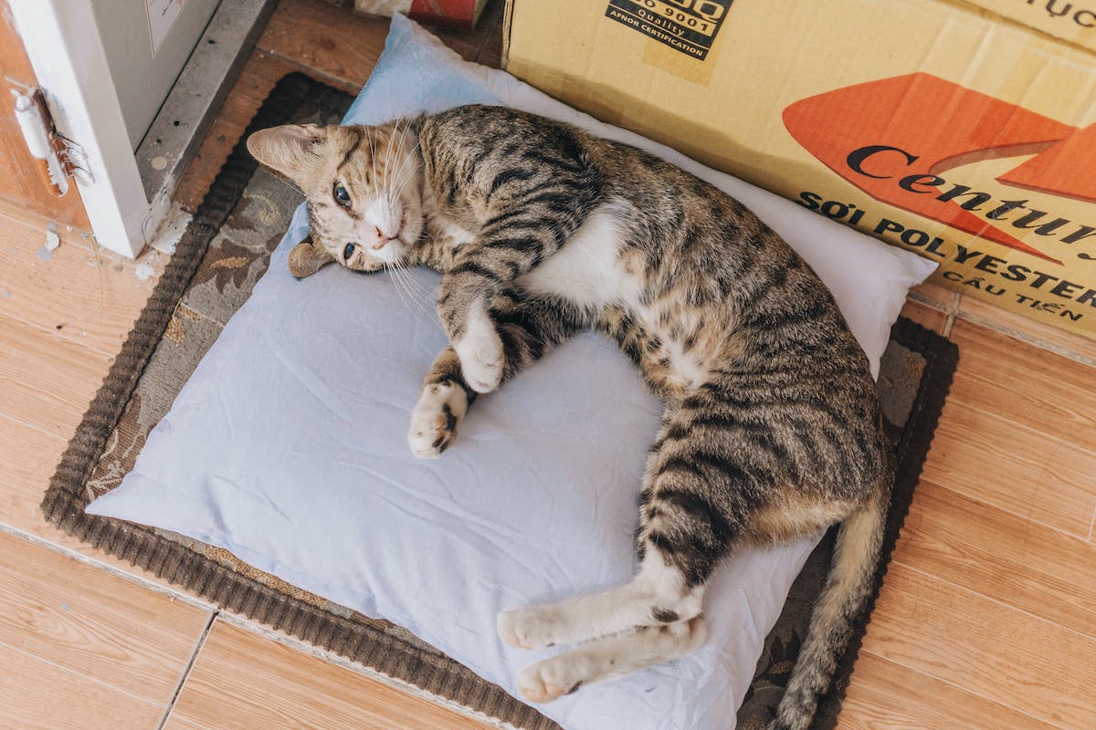
[[[864,648],[1046,723],[1096,727],[1096,640],[904,565],[891,564]]]

